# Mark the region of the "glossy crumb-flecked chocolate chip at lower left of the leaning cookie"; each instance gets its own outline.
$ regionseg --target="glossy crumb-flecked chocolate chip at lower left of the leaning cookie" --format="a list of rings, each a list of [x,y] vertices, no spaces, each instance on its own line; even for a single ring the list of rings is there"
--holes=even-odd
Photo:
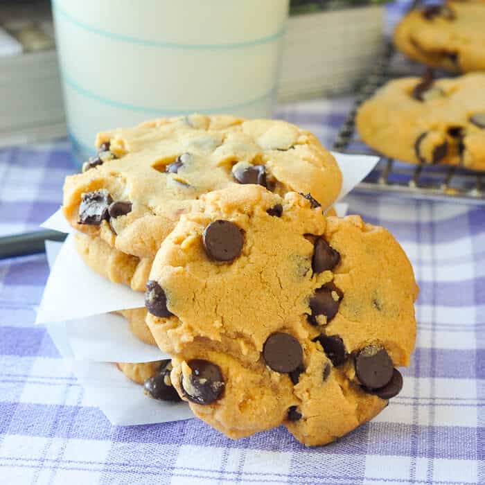
[[[187,362],[191,374],[187,380],[180,377],[180,387],[184,396],[196,404],[211,404],[220,398],[224,389],[224,379],[218,365],[209,360],[193,359]]]

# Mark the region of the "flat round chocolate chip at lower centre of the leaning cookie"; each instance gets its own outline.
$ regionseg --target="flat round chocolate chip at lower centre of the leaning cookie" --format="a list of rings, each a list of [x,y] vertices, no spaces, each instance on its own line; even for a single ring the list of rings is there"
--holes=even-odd
[[[275,332],[266,339],[263,358],[267,366],[276,372],[292,372],[301,365],[303,351],[298,340],[292,335]]]

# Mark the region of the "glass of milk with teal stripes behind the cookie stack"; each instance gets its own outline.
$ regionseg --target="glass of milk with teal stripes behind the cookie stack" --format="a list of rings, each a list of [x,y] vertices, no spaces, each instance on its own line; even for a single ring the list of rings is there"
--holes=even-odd
[[[52,0],[69,136],[191,114],[272,114],[288,0]]]

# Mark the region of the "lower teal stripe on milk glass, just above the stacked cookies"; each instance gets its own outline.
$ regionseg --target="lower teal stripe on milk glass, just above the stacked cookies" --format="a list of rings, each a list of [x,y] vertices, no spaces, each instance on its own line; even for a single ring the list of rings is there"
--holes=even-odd
[[[275,88],[272,88],[270,89],[270,91],[267,91],[267,93],[263,94],[263,96],[259,96],[258,98],[254,98],[252,100],[244,101],[243,103],[237,103],[235,105],[219,106],[211,109],[206,109],[204,107],[197,107],[193,109],[150,108],[148,106],[136,106],[136,105],[130,105],[128,103],[121,103],[120,101],[99,96],[98,94],[92,91],[89,91],[89,89],[85,89],[84,87],[78,85],[78,83],[75,80],[73,80],[73,78],[68,76],[66,73],[62,72],[61,75],[62,75],[62,81],[67,86],[71,87],[72,89],[77,91],[79,94],[82,94],[82,96],[85,96],[86,98],[98,101],[99,103],[103,103],[103,105],[109,105],[120,109],[127,109],[128,111],[154,114],[157,116],[177,116],[177,115],[186,115],[186,114],[192,114],[197,112],[203,113],[203,114],[227,113],[235,109],[240,109],[240,108],[262,103],[264,100],[267,100],[267,98],[270,98],[271,96],[273,96],[276,90]]]

